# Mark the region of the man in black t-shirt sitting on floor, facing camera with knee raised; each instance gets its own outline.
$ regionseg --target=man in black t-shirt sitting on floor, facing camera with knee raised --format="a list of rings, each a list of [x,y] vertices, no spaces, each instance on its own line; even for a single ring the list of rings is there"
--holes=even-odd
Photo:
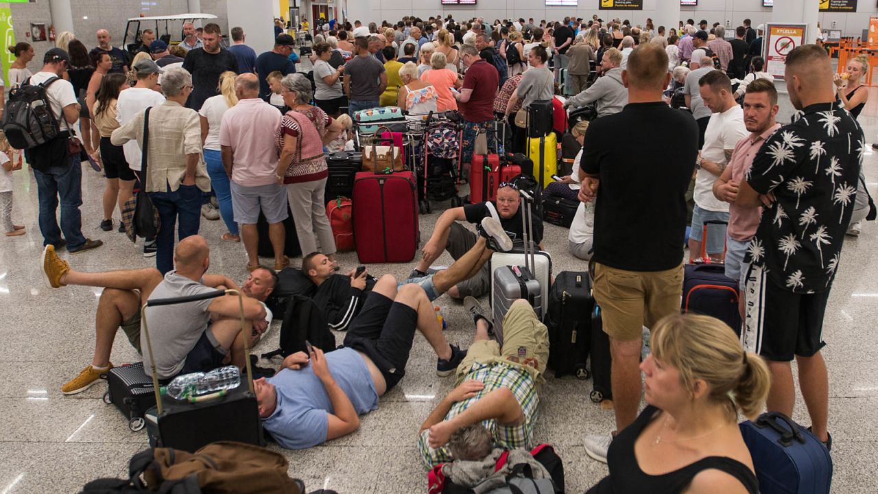
[[[457,222],[481,224],[484,218],[493,217],[500,222],[500,226],[506,231],[507,236],[513,241],[521,241],[524,238],[521,202],[521,193],[512,185],[505,185],[497,190],[496,201],[479,202],[447,209],[436,221],[433,235],[424,244],[423,256],[418,265],[415,266],[410,278],[425,276],[430,265],[442,255],[443,251],[448,251],[451,257],[457,260],[473,248],[479,240],[479,236]],[[532,214],[531,220],[534,225],[531,240],[542,250],[543,220],[536,214]],[[680,232],[680,236],[682,235],[683,233]],[[468,280],[450,287],[447,293],[456,299],[462,299],[467,295],[479,297],[486,294],[491,287],[491,278],[486,265],[491,254],[491,251],[485,251],[485,258],[480,260],[481,268],[478,272],[474,272],[468,277]]]

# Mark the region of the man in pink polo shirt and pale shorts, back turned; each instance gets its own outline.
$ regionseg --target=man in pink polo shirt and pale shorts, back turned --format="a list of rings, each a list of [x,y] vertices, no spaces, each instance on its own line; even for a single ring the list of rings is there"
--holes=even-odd
[[[256,220],[262,210],[269,223],[275,271],[290,264],[284,256],[284,220],[288,216],[286,190],[277,184],[277,144],[274,130],[281,114],[259,98],[259,79],[255,74],[235,78],[238,104],[223,115],[219,127],[222,163],[231,177],[234,221],[241,223],[241,238],[247,250],[248,271],[259,267],[256,246],[259,234]]]

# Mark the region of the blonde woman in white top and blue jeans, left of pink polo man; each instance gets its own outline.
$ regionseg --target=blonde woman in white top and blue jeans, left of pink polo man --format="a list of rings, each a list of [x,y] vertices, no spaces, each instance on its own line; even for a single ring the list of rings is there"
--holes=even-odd
[[[226,233],[222,234],[222,239],[228,242],[241,242],[241,232],[238,229],[238,223],[234,222],[232,191],[226,167],[222,164],[222,149],[219,147],[219,124],[226,111],[238,104],[238,97],[234,93],[235,76],[237,74],[231,70],[220,74],[217,87],[219,94],[205,99],[205,104],[201,105],[201,110],[198,111],[201,120],[201,143],[205,147],[207,174],[211,177],[213,192],[217,194],[219,216],[226,223],[228,229]]]

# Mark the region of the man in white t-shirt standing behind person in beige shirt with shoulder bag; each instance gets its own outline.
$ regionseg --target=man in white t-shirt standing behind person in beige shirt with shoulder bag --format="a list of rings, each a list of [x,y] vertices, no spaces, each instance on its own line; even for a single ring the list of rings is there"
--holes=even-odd
[[[148,62],[148,63],[147,63]],[[158,106],[164,103],[164,96],[160,92],[158,85],[159,75],[163,70],[153,61],[140,61],[134,65],[137,70],[137,84],[133,88],[128,88],[119,93],[119,102],[116,104],[117,112],[116,120],[119,125],[125,125],[133,120],[134,115],[149,108],[150,106]],[[136,175],[140,175],[140,144],[137,140],[122,144],[122,150],[125,152],[125,161]],[[155,257],[157,248],[155,246],[155,238],[147,238],[143,241],[143,257]]]

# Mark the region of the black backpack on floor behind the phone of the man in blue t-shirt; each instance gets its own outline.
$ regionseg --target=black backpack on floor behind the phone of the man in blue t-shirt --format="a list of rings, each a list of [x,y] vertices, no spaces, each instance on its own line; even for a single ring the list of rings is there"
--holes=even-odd
[[[263,359],[307,352],[306,340],[324,352],[335,350],[335,335],[329,331],[326,316],[320,307],[310,297],[291,295],[286,302],[284,323],[280,326],[280,348],[263,353]]]

